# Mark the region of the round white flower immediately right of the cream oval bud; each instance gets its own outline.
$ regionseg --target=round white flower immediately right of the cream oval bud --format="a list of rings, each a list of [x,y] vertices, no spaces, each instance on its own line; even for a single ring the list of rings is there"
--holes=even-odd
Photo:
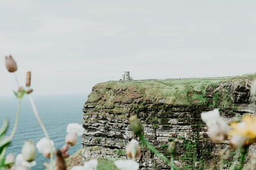
[[[39,152],[43,153],[44,157],[50,158],[51,148],[55,152],[54,143],[52,140],[47,138],[42,138],[38,143],[36,143],[36,148]]]

